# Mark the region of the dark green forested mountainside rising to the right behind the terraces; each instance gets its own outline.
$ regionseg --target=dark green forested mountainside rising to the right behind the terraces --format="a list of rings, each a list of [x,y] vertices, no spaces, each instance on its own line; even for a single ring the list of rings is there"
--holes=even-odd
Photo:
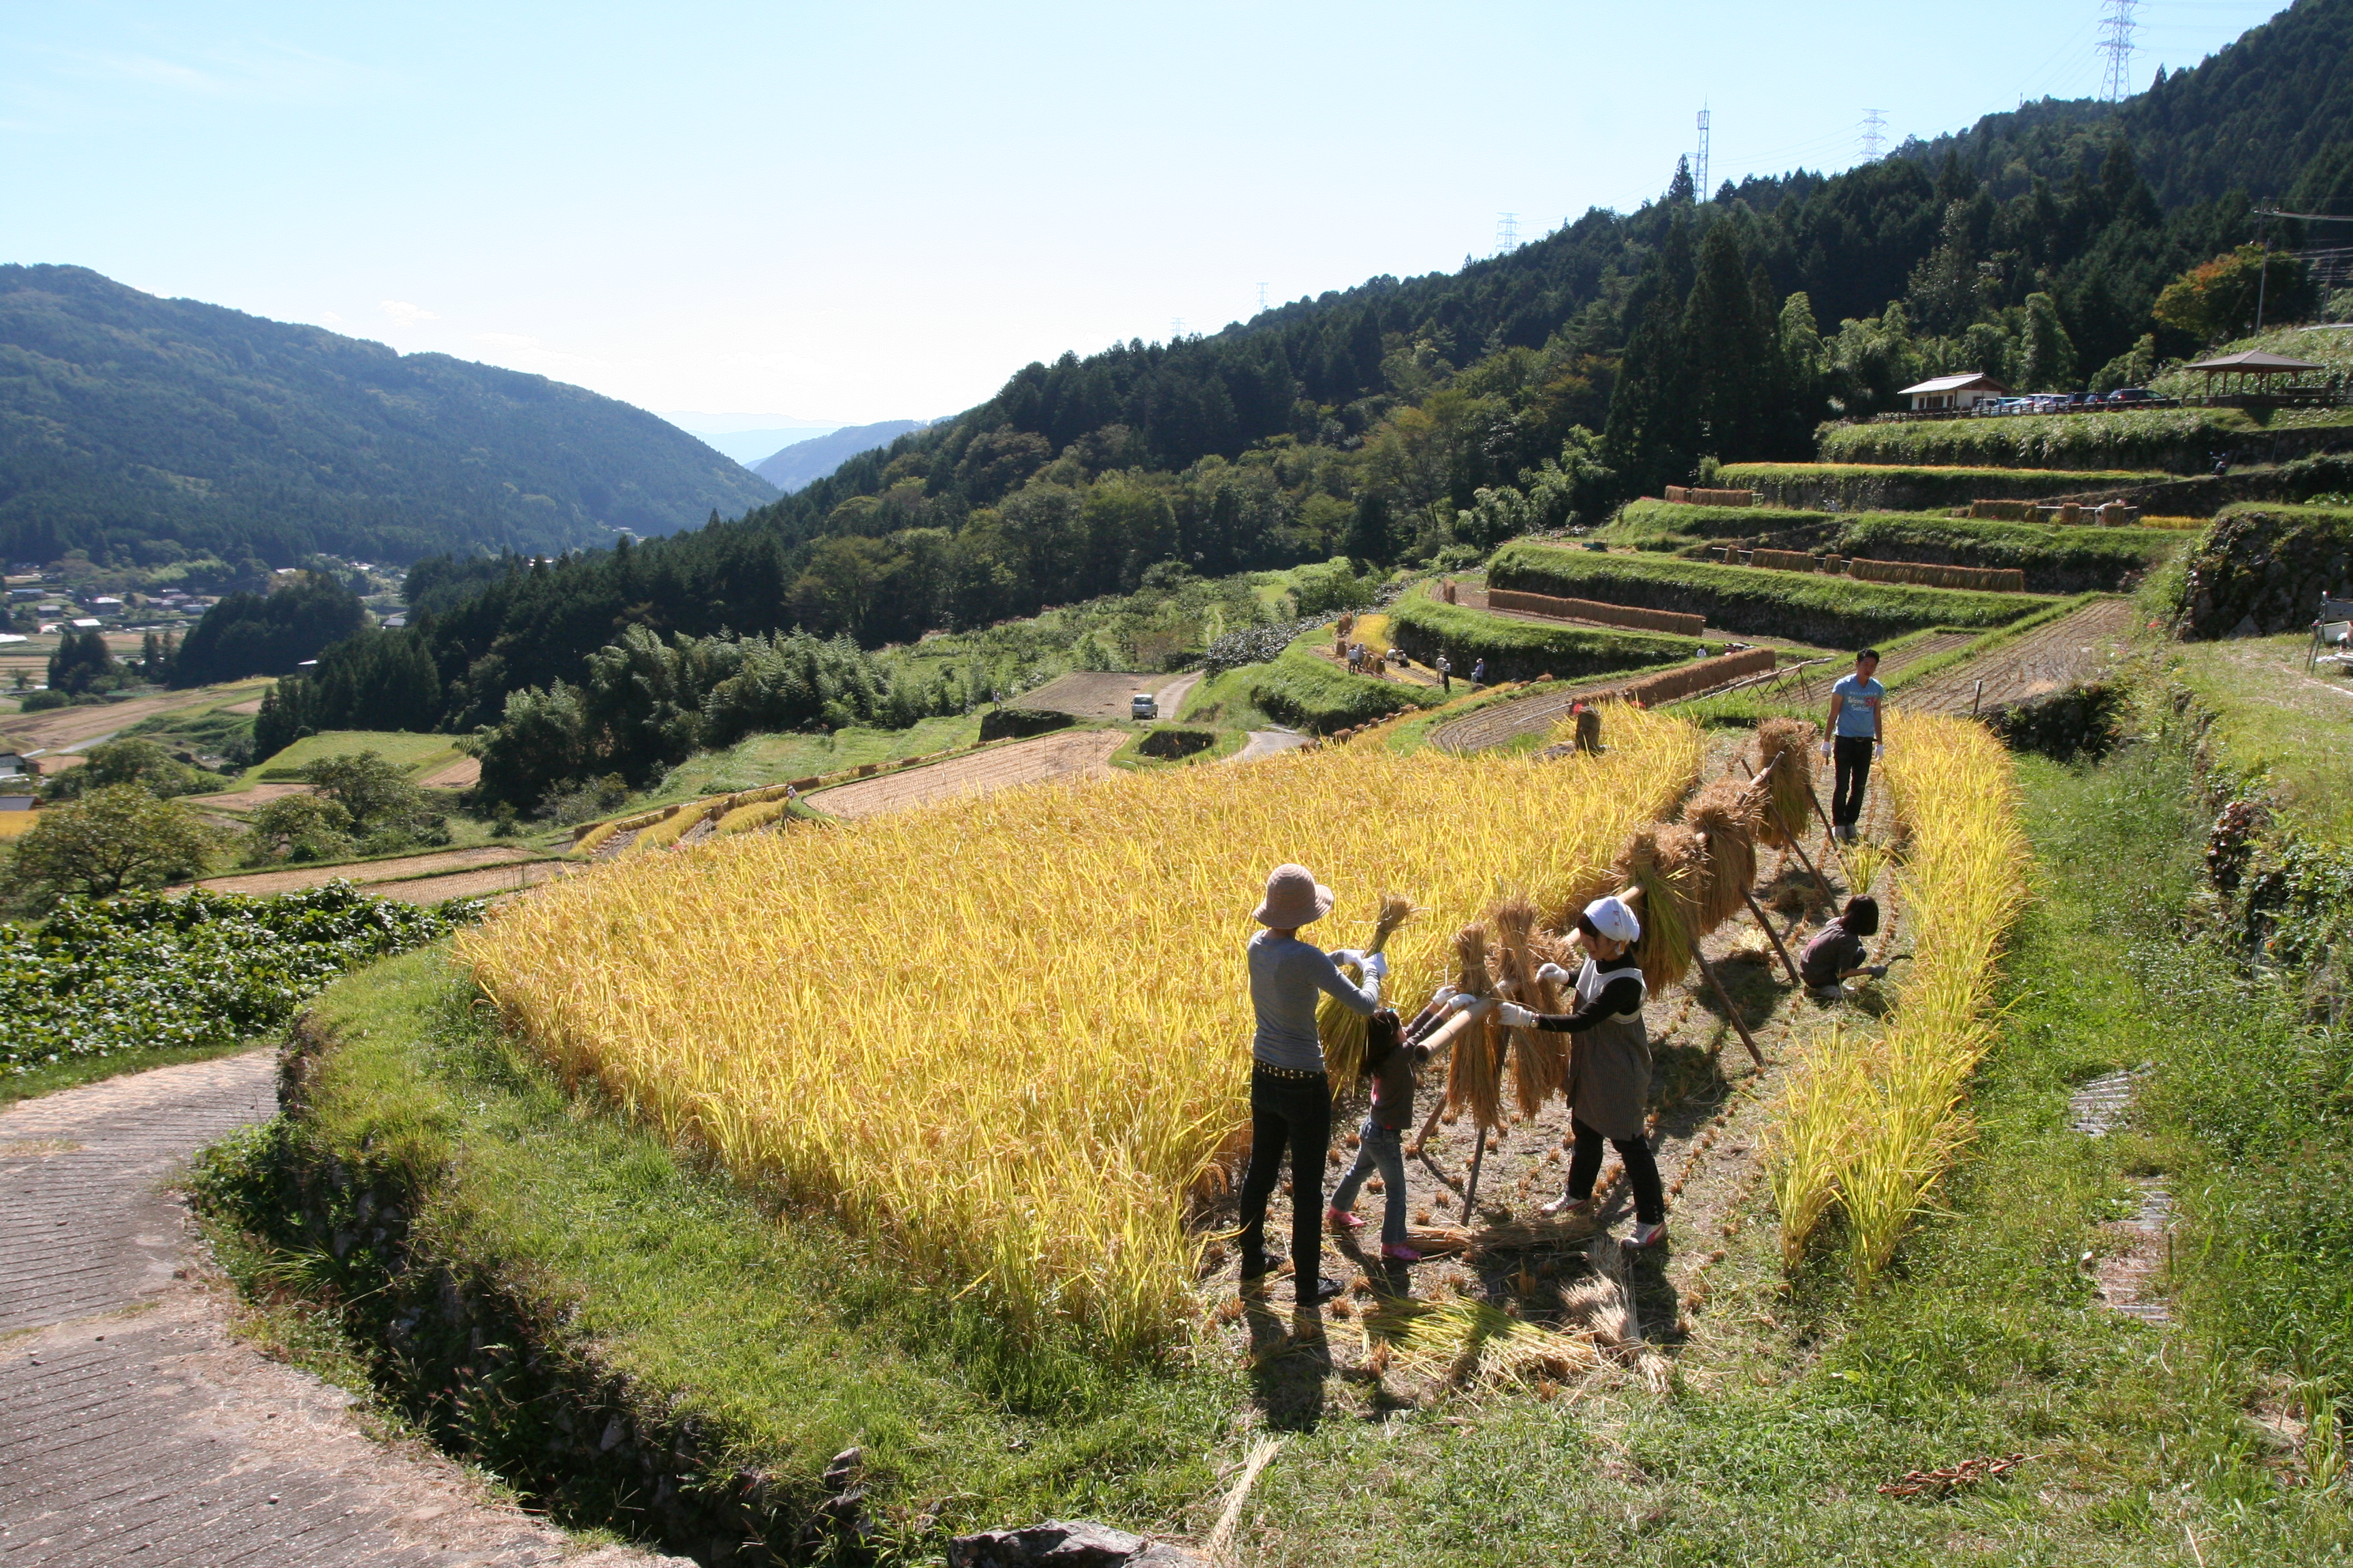
[[[2353,120],[2315,113],[2344,92],[2348,21],[2353,0],[2301,0],[2125,106],[2031,106],[1713,195],[1678,169],[1633,214],[1459,273],[1028,364],[741,522],[555,564],[431,562],[412,574],[431,614],[391,637],[428,654],[445,724],[492,724],[631,625],[878,646],[1146,571],[1478,552],[1711,458],[1809,456],[1821,418],[1927,374],[2139,381],[2200,348],[2151,306],[2257,235],[2249,193],[2311,193],[2353,160]]]

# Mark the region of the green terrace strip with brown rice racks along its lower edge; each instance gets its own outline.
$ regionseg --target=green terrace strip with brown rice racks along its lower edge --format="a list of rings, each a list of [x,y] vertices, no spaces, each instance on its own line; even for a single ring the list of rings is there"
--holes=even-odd
[[[1828,550],[1882,562],[2014,567],[2031,592],[2113,592],[2174,555],[2174,529],[2047,527],[1941,512],[1807,512],[1772,505],[1675,505],[1631,501],[1600,534],[1609,541],[1739,538],[1774,550]]]

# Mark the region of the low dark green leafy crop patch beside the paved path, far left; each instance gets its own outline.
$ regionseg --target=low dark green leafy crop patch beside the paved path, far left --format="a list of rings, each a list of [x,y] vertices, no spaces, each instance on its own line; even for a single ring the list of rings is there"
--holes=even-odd
[[[447,936],[478,903],[306,893],[68,898],[35,933],[0,936],[0,1070],[153,1046],[224,1046],[273,1030],[353,964]]]

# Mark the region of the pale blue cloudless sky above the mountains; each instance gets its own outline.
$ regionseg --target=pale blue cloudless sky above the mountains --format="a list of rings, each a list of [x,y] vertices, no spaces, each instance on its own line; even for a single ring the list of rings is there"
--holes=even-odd
[[[2144,0],[2137,85],[2271,2]],[[2099,87],[2097,0],[0,0],[0,261],[746,423],[1454,268]],[[692,421],[689,421],[692,423]],[[713,425],[715,428],[715,425]]]

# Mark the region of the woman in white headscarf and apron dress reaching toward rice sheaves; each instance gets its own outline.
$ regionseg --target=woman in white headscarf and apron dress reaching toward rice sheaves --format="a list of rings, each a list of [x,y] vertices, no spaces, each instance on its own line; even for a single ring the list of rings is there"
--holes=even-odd
[[[1577,1147],[1569,1154],[1567,1187],[1544,1213],[1593,1213],[1593,1180],[1602,1171],[1607,1138],[1633,1185],[1635,1227],[1626,1244],[1657,1246],[1666,1239],[1666,1187],[1642,1128],[1649,1110],[1649,1032],[1642,1027],[1649,983],[1631,954],[1640,936],[1642,922],[1624,898],[1595,898],[1577,917],[1577,940],[1586,950],[1577,978],[1558,964],[1537,971],[1546,980],[1572,985],[1577,1011],[1537,1013],[1506,1001],[1497,1018],[1508,1030],[1579,1037],[1569,1058],[1569,1131]]]

